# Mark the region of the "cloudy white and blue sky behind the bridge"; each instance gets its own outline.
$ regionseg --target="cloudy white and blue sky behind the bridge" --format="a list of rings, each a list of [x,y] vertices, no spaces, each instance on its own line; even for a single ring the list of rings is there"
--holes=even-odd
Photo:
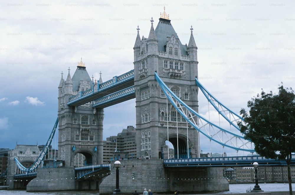
[[[61,73],[66,78],[70,67],[73,76],[81,57],[96,80],[100,72],[107,81],[133,69],[137,25],[140,37],[148,37],[151,17],[155,28],[164,6],[182,44],[194,29],[199,81],[236,113],[261,89],[277,92],[281,82],[295,86],[294,1],[4,0],[0,148],[46,143],[57,118]],[[199,93],[203,116],[209,116],[207,105]],[[217,121],[216,111],[211,113]],[[106,140],[136,126],[135,99],[105,108],[104,114]],[[203,153],[221,152],[207,139],[200,141]]]

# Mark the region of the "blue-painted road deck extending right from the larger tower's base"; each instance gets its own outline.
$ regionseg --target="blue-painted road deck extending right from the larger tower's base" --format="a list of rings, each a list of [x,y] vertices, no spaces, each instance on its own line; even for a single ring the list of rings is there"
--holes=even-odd
[[[165,167],[202,166],[202,167],[244,167],[257,162],[260,166],[286,166],[285,160],[274,160],[263,156],[231,156],[231,157],[206,157],[185,159],[164,159]],[[295,155],[292,155],[291,164],[295,164]]]

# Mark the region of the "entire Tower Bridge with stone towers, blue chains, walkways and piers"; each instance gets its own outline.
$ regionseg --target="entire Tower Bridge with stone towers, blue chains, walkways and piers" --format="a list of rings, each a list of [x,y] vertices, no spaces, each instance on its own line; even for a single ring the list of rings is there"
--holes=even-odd
[[[142,160],[121,162],[123,167],[120,169],[124,173],[122,192],[131,193],[134,186],[144,189],[146,185],[157,193],[174,191],[175,188],[182,192],[228,190],[228,182],[223,178],[220,167],[234,163],[242,165],[246,160],[250,165],[254,158],[200,158],[200,133],[210,142],[214,141],[222,147],[255,152],[251,142],[244,140],[236,128],[237,121],[243,119],[220,103],[198,81],[199,62],[192,26],[189,42],[183,45],[165,11],[155,29],[153,18],[150,22],[148,37],[140,37],[140,28],[137,27],[133,70],[114,76],[106,82],[102,81],[100,75],[97,82],[94,77],[91,79],[81,58],[73,77],[70,67],[66,79],[61,74],[58,86],[58,118],[50,138],[30,168],[24,168],[17,157],[10,160],[8,180],[13,181],[14,178],[26,174],[33,177],[32,172],[35,171],[37,178],[27,185],[28,191],[52,191],[61,189],[62,186],[63,190],[99,189],[101,194],[112,193],[114,187],[109,186],[115,181],[115,174],[112,174],[113,162],[102,165],[104,108],[135,98],[136,156]],[[199,90],[238,133],[224,129],[198,113]],[[58,159],[65,162],[64,168],[40,168],[36,171],[44,159],[57,126]],[[167,141],[174,147],[175,158],[163,160],[164,152],[168,152],[169,158]],[[85,156],[85,166],[82,168],[74,168],[74,158],[78,153]],[[280,161],[269,159],[263,162],[282,165]],[[171,171],[172,167],[178,169]],[[14,176],[18,173],[17,170],[24,175]],[[171,185],[169,178],[173,180],[185,174],[193,174],[195,178],[210,176],[216,179]],[[56,180],[53,181],[52,178]],[[85,181],[86,178],[89,181]],[[67,182],[66,187],[64,182]],[[9,185],[13,188],[14,184],[12,182]]]

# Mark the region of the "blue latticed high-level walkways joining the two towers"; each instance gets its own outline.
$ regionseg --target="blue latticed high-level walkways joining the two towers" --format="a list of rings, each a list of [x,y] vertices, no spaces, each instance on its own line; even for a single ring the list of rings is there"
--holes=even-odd
[[[96,101],[99,98],[104,98],[108,95],[112,95],[114,92],[121,91],[120,98],[116,98],[114,103],[110,103],[110,100],[108,101],[108,105],[102,106],[101,104],[93,105],[93,107],[99,107],[99,108],[105,108],[110,105],[114,105],[129,99],[135,98],[135,92],[133,94],[129,94],[122,98],[122,89],[126,89],[127,87],[134,86],[134,70],[131,70],[129,72],[126,72],[120,76],[115,76],[113,79],[110,79],[106,82],[103,82],[98,85],[97,89],[94,89],[94,86],[86,91],[79,92],[77,95],[74,95],[69,98],[69,102],[67,105],[69,106],[79,106],[83,105],[90,101]],[[133,90],[134,91],[134,90]],[[110,96],[107,97],[110,99]]]

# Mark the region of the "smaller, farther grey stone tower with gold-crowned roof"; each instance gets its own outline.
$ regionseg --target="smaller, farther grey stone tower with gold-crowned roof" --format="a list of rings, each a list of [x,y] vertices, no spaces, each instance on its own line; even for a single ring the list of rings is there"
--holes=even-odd
[[[78,164],[78,153],[82,154],[83,165],[102,164],[103,154],[103,118],[104,110],[92,108],[93,101],[80,105],[68,106],[67,102],[91,88],[97,88],[97,82],[89,77],[85,63],[78,63],[71,78],[70,68],[67,79],[63,73],[58,86],[58,159],[65,160],[65,166],[81,166]]]

